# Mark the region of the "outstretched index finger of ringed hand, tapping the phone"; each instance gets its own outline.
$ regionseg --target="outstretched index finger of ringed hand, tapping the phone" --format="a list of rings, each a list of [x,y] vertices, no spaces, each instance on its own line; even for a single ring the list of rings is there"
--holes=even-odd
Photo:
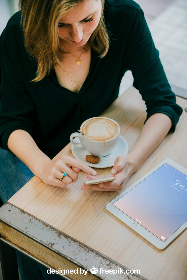
[[[76,166],[76,168],[86,172],[89,175],[95,176],[97,173],[96,171],[78,159],[74,159],[71,156],[62,155],[61,158],[65,160],[65,163],[71,166]]]

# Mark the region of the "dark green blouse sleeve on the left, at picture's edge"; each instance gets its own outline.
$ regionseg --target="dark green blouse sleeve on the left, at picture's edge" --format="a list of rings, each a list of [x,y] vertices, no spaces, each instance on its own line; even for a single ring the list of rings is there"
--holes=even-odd
[[[12,38],[13,34],[17,39]],[[23,42],[21,36],[17,26],[7,24],[0,37],[0,146],[4,149],[8,149],[7,140],[14,130],[23,129],[32,135],[31,114],[34,106],[21,77],[21,65],[17,63]]]

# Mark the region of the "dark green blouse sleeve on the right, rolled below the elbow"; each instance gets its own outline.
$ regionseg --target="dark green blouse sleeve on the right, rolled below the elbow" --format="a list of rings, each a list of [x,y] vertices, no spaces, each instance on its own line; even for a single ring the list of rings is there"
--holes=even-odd
[[[127,67],[132,71],[134,87],[147,106],[147,119],[154,113],[164,113],[175,126],[182,113],[166,78],[142,10],[135,17],[127,49]],[[146,119],[146,120],[147,120]]]

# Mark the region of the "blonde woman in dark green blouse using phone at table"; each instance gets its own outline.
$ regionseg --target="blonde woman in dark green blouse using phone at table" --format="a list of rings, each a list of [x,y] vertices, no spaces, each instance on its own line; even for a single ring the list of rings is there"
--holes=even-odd
[[[80,170],[95,179],[91,167],[72,157],[51,158],[84,120],[117,98],[131,70],[147,105],[145,125],[128,155],[115,160],[114,181],[81,186],[121,191],[182,113],[140,6],[131,0],[22,0],[20,6],[0,38],[2,200],[33,174],[62,188]]]

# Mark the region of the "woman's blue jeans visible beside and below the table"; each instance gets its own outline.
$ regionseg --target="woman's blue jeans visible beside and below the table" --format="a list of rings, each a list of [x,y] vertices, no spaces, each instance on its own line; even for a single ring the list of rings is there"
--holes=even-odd
[[[5,203],[34,174],[13,153],[0,148],[0,197]],[[47,269],[24,254],[16,251],[22,280],[62,280],[57,274],[47,274]]]

